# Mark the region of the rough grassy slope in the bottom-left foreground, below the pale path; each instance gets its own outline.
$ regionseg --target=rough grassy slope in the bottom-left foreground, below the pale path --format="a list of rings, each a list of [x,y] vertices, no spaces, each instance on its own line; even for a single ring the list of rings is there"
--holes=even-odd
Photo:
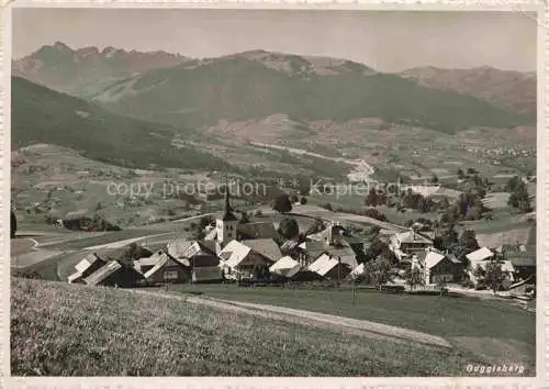
[[[14,278],[11,304],[14,376],[459,376],[477,362],[126,290]]]

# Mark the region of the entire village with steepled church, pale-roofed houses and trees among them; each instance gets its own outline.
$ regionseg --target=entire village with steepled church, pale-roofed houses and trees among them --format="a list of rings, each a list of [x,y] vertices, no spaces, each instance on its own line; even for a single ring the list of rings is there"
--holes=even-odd
[[[295,209],[299,210],[299,203]],[[490,236],[479,236],[478,242],[473,234],[466,242],[468,252],[458,258],[448,249],[437,248],[436,237],[425,229],[422,231],[418,223],[401,226],[368,218],[377,232],[372,243],[355,236],[352,226],[345,226],[337,218],[311,215],[314,222],[300,233],[292,215],[307,216],[282,213],[278,227],[270,220],[250,221],[247,215],[239,219],[226,189],[223,212],[216,218],[203,216],[194,226],[197,238],[176,236],[158,249],[134,243],[121,258],[90,253],[75,266],[67,281],[125,288],[333,282],[393,291],[444,294],[449,290],[462,293],[484,290],[524,301],[535,298],[535,225],[524,242],[515,244],[508,238],[497,241]],[[468,234],[470,230],[460,240],[467,241]]]

